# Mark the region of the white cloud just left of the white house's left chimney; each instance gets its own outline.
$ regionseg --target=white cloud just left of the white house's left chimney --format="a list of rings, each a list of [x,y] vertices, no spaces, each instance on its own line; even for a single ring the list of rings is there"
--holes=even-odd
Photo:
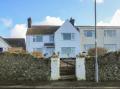
[[[26,24],[16,24],[13,29],[11,29],[11,38],[25,38],[27,31]]]

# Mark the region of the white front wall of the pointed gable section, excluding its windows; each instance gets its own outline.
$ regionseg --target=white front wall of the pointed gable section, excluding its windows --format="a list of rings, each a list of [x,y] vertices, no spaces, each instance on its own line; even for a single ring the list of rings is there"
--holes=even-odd
[[[75,40],[63,40],[61,33],[75,33]],[[55,32],[55,52],[60,53],[60,57],[66,57],[61,54],[61,47],[75,47],[75,57],[80,52],[80,33],[76,28],[67,20]]]

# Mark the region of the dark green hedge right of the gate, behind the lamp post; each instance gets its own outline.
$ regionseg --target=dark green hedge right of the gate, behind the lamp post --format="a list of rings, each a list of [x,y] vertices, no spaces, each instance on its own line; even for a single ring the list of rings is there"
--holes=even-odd
[[[120,80],[120,52],[110,52],[98,57],[99,80],[119,81]],[[86,78],[89,81],[95,80],[95,59],[86,58]]]

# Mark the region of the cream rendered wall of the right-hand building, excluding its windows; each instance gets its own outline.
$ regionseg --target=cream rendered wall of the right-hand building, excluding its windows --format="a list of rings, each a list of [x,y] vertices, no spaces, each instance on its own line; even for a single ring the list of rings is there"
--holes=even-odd
[[[94,27],[84,26],[79,27],[80,30],[80,49],[85,51],[85,44],[95,44],[94,37],[85,37],[84,30],[94,30]],[[116,37],[104,37],[104,30],[116,30]],[[97,46],[104,47],[104,44],[116,44],[117,49],[120,49],[120,27],[98,27],[97,28]]]

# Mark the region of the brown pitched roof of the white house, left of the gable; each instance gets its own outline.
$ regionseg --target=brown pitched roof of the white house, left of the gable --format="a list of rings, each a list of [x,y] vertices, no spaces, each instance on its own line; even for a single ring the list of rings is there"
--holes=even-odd
[[[53,34],[60,26],[40,25],[27,29],[26,35]]]

